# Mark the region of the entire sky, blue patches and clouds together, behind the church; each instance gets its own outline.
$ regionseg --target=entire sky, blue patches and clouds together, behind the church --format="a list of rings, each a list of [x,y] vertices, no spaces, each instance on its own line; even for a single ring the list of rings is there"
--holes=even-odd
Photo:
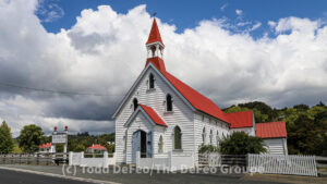
[[[154,12],[167,70],[220,108],[327,103],[324,0],[0,0],[0,121],[113,132]]]

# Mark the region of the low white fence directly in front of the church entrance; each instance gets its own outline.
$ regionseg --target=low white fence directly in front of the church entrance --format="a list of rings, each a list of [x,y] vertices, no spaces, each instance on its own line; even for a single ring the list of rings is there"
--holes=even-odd
[[[140,151],[136,152],[136,167],[154,170],[182,170],[194,168],[194,157],[192,154],[168,152],[153,158],[141,158]]]

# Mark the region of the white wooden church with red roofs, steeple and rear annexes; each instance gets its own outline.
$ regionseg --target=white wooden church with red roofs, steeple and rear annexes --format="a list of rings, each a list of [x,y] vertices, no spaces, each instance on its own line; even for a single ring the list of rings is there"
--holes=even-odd
[[[219,138],[233,131],[265,138],[270,154],[287,154],[284,122],[261,123],[257,132],[253,111],[225,113],[166,71],[156,19],[146,48],[145,68],[113,114],[118,164],[135,163],[136,151],[141,158],[191,154],[196,164],[201,144],[218,146]]]

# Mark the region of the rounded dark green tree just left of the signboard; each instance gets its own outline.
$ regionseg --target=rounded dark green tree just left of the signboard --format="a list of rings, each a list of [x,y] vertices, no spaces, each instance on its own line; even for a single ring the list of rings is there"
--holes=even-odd
[[[38,145],[41,144],[43,135],[44,133],[41,127],[35,124],[25,125],[19,137],[20,147],[24,152],[36,151],[38,149]]]

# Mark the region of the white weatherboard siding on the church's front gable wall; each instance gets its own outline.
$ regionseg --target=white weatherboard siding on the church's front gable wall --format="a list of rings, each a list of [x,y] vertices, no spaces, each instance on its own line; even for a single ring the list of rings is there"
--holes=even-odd
[[[155,89],[148,90],[147,82],[148,75],[155,75]],[[166,95],[170,94],[173,99],[173,112],[166,112]],[[182,150],[183,152],[193,151],[193,111],[192,109],[175,94],[175,91],[161,78],[161,76],[152,66],[147,68],[144,75],[141,76],[138,84],[130,94],[125,103],[116,116],[116,152],[117,163],[126,162],[124,154],[124,123],[133,113],[133,99],[137,98],[138,102],[152,107],[157,114],[167,123],[168,127],[161,127],[164,132],[164,150],[170,151],[173,147],[172,131],[175,125],[179,125],[182,131]],[[160,128],[160,127],[159,127]],[[164,128],[164,130],[162,130]],[[132,134],[129,131],[129,135]],[[130,138],[130,136],[129,136]],[[157,152],[159,136],[154,132],[154,154]],[[131,138],[128,139],[128,147],[131,146]],[[129,149],[129,148],[128,148]],[[128,157],[130,157],[128,155]],[[130,158],[129,158],[130,159]]]

